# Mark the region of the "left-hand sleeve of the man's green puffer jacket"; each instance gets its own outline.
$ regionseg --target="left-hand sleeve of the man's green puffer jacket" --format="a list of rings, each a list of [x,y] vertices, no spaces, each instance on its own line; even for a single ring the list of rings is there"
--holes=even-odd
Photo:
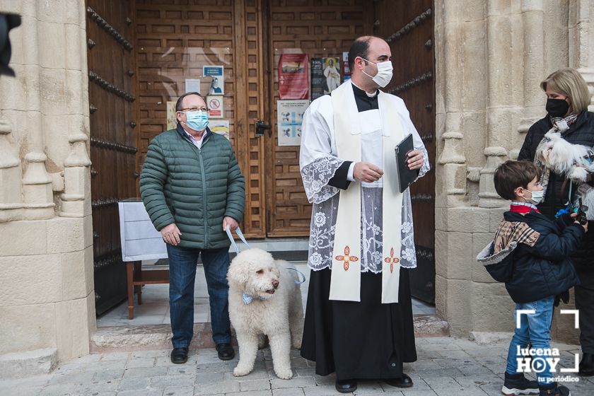
[[[157,139],[153,139],[148,146],[146,160],[140,173],[140,196],[157,231],[161,231],[161,228],[175,223],[173,214],[171,214],[165,199],[166,179],[167,164],[165,163],[165,156]]]

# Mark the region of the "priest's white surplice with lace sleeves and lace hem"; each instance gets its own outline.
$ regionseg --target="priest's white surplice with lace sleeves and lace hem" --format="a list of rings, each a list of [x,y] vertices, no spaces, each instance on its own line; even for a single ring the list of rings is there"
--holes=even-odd
[[[344,84],[351,83],[347,81]],[[429,170],[428,155],[421,138],[410,120],[409,112],[402,99],[395,95],[384,96],[389,99],[389,110],[382,109],[382,111],[397,112],[404,136],[412,134],[414,147],[424,153],[425,161],[419,173],[419,177],[421,177]],[[377,130],[378,122],[373,122],[372,112],[378,112],[378,110],[368,110],[363,113],[369,114],[355,114],[356,117],[351,117],[353,122],[359,122],[361,129],[362,161],[369,161],[368,156],[377,156],[374,153],[378,148],[370,149],[368,147],[369,139],[375,141],[378,134],[380,135]],[[378,143],[381,144],[380,138]],[[381,147],[379,150],[381,151]],[[369,162],[383,168],[381,160],[378,161],[377,158],[372,158],[372,160]],[[332,99],[329,95],[325,95],[314,100],[305,112],[301,135],[301,175],[308,200],[313,203],[308,265],[314,270],[332,268],[332,250],[334,249],[340,190],[327,183],[343,162],[344,159],[337,156]],[[379,273],[383,269],[382,191],[381,182],[366,183],[361,187],[361,272]],[[395,210],[395,208],[384,209]],[[409,190],[403,194],[401,214],[400,265],[412,268],[417,266],[417,259],[414,251]]]

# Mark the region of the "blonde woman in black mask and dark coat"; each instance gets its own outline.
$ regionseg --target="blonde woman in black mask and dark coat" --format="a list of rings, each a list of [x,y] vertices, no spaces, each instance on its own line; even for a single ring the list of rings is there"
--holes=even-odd
[[[572,144],[594,146],[594,113],[588,112],[591,95],[581,74],[574,69],[559,69],[540,83],[547,95],[547,116],[530,127],[518,160],[534,161],[536,147],[549,130],[561,134]],[[542,204],[538,209],[549,218],[554,218],[567,202],[569,189],[564,187],[564,177],[550,173]],[[592,178],[588,175],[588,182]],[[575,191],[576,189],[573,189]],[[573,200],[573,197],[572,197]],[[591,226],[591,224],[590,224]],[[591,228],[590,228],[591,229]],[[581,285],[575,287],[576,308],[580,310],[580,343],[583,357],[580,375],[594,375],[594,231],[583,238],[581,249],[572,257]]]

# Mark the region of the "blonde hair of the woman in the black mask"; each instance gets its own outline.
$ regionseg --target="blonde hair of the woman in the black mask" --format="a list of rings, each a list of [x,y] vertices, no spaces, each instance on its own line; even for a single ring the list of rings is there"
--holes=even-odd
[[[567,96],[571,100],[571,109],[576,114],[588,110],[588,105],[592,100],[586,80],[576,69],[569,67],[554,71],[547,78],[544,78],[544,81],[540,83],[540,88],[545,92],[547,88],[550,88]]]

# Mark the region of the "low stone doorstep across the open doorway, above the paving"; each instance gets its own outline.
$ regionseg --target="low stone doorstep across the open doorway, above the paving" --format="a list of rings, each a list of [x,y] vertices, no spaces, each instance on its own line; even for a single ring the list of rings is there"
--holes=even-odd
[[[450,328],[445,320],[435,315],[414,315],[415,337],[447,337],[449,334]],[[170,348],[170,325],[99,327],[91,336],[92,353]],[[210,322],[194,323],[190,348],[214,348]]]

